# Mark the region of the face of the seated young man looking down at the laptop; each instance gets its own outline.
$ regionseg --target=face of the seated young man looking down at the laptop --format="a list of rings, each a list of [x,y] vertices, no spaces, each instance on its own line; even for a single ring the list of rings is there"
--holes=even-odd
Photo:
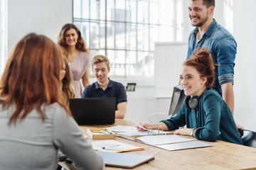
[[[99,84],[105,84],[108,82],[107,74],[109,74],[110,69],[107,69],[107,64],[105,62],[93,64],[92,72]]]

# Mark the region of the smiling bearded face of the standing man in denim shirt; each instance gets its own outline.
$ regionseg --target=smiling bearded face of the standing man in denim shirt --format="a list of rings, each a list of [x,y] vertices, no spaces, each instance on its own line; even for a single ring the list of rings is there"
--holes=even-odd
[[[190,0],[188,6],[188,16],[191,19],[191,25],[197,27],[203,26],[203,24],[209,19],[212,19],[213,9],[213,6],[207,8],[207,6],[203,4],[203,0]]]

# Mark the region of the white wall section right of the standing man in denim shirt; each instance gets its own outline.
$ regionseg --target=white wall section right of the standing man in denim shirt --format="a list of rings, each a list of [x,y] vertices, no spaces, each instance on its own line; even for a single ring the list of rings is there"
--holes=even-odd
[[[235,120],[245,128],[256,131],[256,35],[254,0],[234,0],[234,36],[238,42],[235,59]]]

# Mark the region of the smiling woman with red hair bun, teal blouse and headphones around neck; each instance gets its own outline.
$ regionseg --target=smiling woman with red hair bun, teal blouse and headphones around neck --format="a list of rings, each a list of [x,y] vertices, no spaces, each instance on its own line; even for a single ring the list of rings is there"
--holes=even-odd
[[[176,130],[178,135],[191,135],[198,140],[223,140],[242,145],[233,115],[223,98],[212,89],[214,64],[210,52],[198,48],[183,63],[181,86],[186,95],[178,113],[160,123],[141,123],[144,128]],[[186,125],[186,128],[180,128]],[[138,130],[144,129],[137,127]]]

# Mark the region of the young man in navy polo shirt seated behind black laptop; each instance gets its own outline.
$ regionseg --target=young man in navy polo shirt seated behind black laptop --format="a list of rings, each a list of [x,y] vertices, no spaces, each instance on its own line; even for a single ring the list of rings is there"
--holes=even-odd
[[[123,119],[127,110],[127,94],[124,85],[107,77],[110,72],[108,58],[96,55],[92,59],[92,72],[97,82],[85,88],[82,98],[117,98],[115,118]]]

